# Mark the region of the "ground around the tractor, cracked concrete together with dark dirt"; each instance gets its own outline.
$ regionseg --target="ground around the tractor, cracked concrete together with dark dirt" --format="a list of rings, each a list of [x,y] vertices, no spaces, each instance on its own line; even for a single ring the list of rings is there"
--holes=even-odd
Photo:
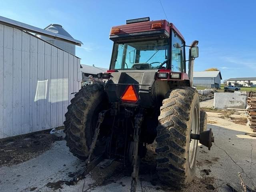
[[[215,136],[210,151],[198,146],[195,180],[182,189],[163,186],[156,174],[155,147],[141,160],[137,192],[229,192],[231,183],[241,192],[238,172],[251,188],[256,188],[256,138],[245,135],[241,112],[207,112],[208,129]],[[84,162],[68,152],[64,134],[36,134],[0,145],[1,192],[126,192],[130,190],[131,168],[115,161],[102,170],[99,164],[84,179],[74,184],[72,177]],[[4,150],[2,150],[4,149]],[[104,163],[104,162],[102,162]]]

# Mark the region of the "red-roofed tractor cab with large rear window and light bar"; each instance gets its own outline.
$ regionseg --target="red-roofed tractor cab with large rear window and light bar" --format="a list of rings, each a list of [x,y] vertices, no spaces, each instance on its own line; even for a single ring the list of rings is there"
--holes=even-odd
[[[133,96],[138,95],[132,103],[145,107],[161,103],[170,88],[190,86],[185,40],[172,23],[149,17],[127,20],[126,25],[111,28],[110,40],[114,42],[110,68],[98,74],[108,79],[105,87],[110,103],[131,103],[123,99],[128,86]],[[197,47],[191,52],[190,58],[198,56]]]

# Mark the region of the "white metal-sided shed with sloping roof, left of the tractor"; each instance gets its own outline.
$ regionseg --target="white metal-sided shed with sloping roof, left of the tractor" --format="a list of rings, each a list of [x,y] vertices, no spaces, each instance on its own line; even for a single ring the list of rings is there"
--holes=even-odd
[[[0,138],[62,126],[80,89],[80,58],[30,32],[79,45],[0,17]]]

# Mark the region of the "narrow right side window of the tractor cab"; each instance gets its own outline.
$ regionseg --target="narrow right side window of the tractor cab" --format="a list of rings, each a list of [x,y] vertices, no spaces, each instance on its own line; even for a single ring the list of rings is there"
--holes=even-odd
[[[185,72],[184,48],[185,43],[178,37],[178,34],[172,30],[172,71]]]

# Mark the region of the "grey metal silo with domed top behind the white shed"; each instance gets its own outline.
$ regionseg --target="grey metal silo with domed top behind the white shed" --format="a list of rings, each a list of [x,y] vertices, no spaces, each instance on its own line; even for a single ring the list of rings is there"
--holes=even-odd
[[[64,28],[59,25],[59,24],[50,24],[48,25],[46,28],[44,28],[44,30],[56,33],[56,34],[60,34],[69,38],[74,39],[68,32],[66,32],[66,30],[64,30]],[[36,36],[38,36],[39,38],[54,44],[55,46],[75,55],[76,54],[76,47],[74,44],[71,44],[67,41],[64,40],[58,40],[58,39],[54,39],[54,38],[50,38],[48,36],[44,36],[44,35],[39,35],[37,34]]]

